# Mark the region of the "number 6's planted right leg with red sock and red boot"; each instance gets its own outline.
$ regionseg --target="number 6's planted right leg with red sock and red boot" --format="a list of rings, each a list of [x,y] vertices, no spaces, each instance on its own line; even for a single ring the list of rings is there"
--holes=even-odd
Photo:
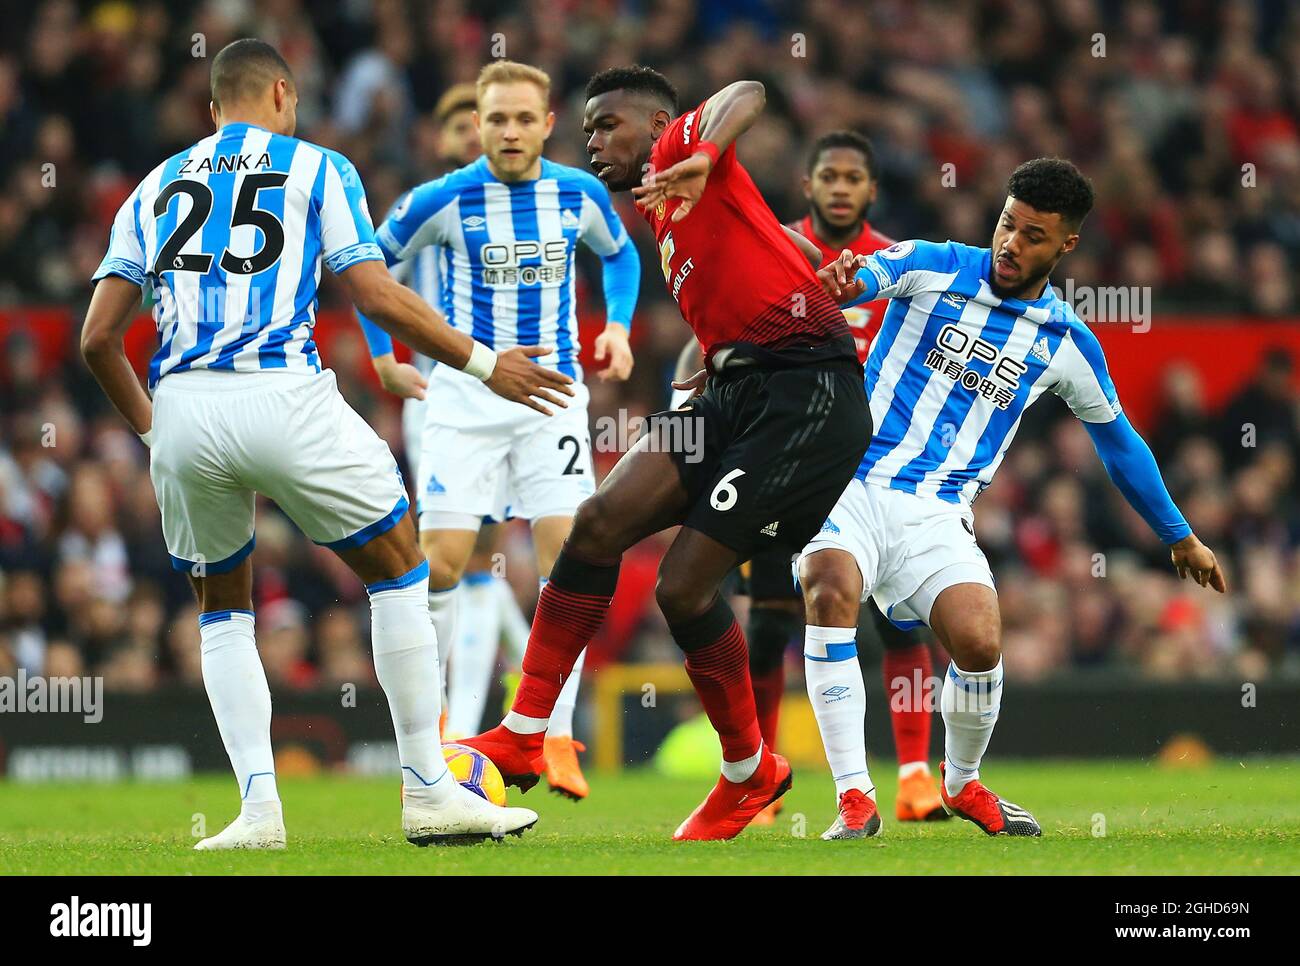
[[[763,745],[745,636],[718,593],[734,550],[682,527],[659,564],[655,598],[723,746],[722,776],[673,832],[676,841],[733,839],[790,788],[786,761]]]

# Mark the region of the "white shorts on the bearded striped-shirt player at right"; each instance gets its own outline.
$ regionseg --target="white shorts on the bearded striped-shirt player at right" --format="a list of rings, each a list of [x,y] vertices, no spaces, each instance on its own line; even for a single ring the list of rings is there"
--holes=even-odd
[[[963,503],[918,497],[853,480],[822,530],[800,556],[845,550],[862,572],[862,602],[904,629],[930,623],[935,599],[954,584],[996,590],[984,551],[975,542],[975,516]]]

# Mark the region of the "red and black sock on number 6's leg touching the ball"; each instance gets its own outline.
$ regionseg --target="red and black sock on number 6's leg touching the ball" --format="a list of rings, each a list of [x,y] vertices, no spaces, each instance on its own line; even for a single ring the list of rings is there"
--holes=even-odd
[[[601,629],[618,582],[618,563],[595,564],[560,550],[537,601],[512,711],[550,718],[573,662]]]

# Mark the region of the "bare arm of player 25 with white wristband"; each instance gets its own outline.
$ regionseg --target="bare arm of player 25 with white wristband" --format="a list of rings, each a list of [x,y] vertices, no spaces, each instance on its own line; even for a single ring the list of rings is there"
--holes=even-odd
[[[568,406],[564,397],[573,395],[569,387],[573,380],[532,361],[534,356],[549,354],[550,348],[516,346],[493,352],[447,325],[439,312],[393,278],[377,260],[354,263],[338,278],[361,313],[417,352],[477,376],[497,395],[547,416],[551,411],[538,399]]]

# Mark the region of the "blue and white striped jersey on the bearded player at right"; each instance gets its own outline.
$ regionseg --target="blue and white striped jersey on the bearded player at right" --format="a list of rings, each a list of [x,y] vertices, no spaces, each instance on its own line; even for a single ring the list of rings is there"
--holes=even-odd
[[[998,299],[989,263],[988,248],[911,241],[858,270],[854,304],[890,299],[867,356],[875,434],[859,480],[970,503],[1043,393],[1084,423],[1119,417],[1097,337],[1050,285],[1034,302]]]

